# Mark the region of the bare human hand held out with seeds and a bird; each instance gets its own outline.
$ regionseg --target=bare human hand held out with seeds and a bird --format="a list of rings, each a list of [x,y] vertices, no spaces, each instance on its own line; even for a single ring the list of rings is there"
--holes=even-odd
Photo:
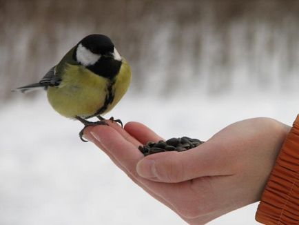
[[[116,123],[85,130],[136,184],[189,224],[205,224],[260,199],[290,127],[274,119],[239,121],[185,152],[138,150],[162,138],[143,124]]]

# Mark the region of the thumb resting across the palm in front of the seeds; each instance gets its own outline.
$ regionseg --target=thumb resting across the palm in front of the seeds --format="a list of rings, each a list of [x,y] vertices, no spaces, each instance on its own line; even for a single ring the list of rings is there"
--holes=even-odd
[[[156,182],[178,183],[197,177],[231,175],[229,151],[208,141],[184,152],[148,155],[136,165],[138,175]]]

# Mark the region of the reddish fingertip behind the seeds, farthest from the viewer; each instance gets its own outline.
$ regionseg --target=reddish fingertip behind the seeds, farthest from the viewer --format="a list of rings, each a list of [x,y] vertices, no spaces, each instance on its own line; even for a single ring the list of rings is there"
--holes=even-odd
[[[147,141],[160,141],[163,140],[162,137],[154,133],[147,126],[138,122],[129,122],[125,124],[124,128],[127,133],[135,137],[141,144],[146,144]]]

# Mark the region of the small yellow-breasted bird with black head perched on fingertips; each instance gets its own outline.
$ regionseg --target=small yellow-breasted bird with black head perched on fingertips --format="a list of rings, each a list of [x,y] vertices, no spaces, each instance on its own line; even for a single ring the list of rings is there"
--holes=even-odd
[[[107,125],[102,115],[121,100],[130,86],[131,68],[116,50],[110,37],[92,34],[84,37],[34,84],[16,90],[28,92],[44,89],[56,112],[87,126]],[[88,119],[97,117],[99,121]],[[120,119],[110,118],[123,126]]]

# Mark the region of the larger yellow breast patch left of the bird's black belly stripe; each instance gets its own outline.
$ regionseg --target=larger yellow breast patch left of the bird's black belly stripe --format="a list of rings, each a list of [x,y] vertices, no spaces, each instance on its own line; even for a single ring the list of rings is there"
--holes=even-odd
[[[103,106],[107,82],[83,66],[68,65],[61,84],[48,88],[48,100],[65,117],[88,117]]]

